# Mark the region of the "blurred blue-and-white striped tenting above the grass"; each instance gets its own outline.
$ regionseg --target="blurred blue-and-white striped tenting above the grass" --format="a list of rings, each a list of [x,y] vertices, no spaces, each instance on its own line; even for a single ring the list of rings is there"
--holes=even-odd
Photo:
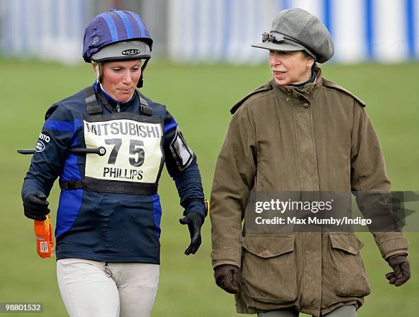
[[[155,38],[153,53],[177,62],[259,63],[252,43],[285,8],[303,8],[331,32],[334,62],[400,62],[419,56],[418,0],[1,0],[0,51],[82,62],[84,28],[118,8],[138,12]]]

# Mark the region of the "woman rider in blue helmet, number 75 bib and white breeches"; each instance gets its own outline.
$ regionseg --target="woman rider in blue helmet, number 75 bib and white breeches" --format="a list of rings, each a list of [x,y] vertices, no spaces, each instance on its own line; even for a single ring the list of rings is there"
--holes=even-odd
[[[185,253],[201,244],[205,205],[196,156],[166,106],[137,90],[152,45],[134,12],[110,10],[89,23],[83,58],[97,80],[49,108],[23,183],[25,216],[44,220],[60,177],[57,275],[70,316],[150,315],[164,164],[185,209],[181,224],[190,230]]]

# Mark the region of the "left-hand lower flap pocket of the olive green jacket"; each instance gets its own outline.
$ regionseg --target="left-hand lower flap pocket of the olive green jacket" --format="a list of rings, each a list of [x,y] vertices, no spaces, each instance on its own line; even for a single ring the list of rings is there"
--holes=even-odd
[[[263,303],[296,299],[293,236],[246,236],[242,281],[249,296]]]

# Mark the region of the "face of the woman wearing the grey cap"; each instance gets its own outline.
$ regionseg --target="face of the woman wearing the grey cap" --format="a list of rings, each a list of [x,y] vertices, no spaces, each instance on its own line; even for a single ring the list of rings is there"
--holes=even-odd
[[[301,84],[312,77],[314,59],[303,51],[269,51],[268,61],[278,85]]]

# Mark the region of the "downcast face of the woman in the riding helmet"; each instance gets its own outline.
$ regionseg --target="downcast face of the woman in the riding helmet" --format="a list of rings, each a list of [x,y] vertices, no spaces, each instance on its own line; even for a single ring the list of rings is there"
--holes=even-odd
[[[141,76],[141,60],[104,62],[101,68],[103,89],[116,101],[129,101]]]

